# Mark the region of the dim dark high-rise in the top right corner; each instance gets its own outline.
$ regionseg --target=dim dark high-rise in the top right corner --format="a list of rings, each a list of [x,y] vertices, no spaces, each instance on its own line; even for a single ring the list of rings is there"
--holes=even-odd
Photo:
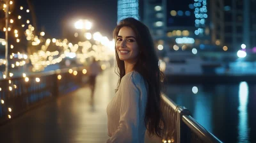
[[[218,23],[214,27],[215,40],[220,40],[221,45],[227,45],[231,51],[240,49],[242,44],[248,48],[256,47],[255,0],[218,0],[212,5],[212,17]]]

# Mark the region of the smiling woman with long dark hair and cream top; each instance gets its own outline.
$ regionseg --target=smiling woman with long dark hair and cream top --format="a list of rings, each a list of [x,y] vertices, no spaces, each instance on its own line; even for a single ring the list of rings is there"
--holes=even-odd
[[[127,18],[113,34],[120,78],[107,107],[107,142],[144,142],[146,130],[161,137],[166,128],[160,103],[164,75],[148,27]]]

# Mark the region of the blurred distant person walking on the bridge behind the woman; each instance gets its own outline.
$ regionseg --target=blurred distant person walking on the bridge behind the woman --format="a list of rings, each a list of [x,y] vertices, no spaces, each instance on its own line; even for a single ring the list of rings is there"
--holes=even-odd
[[[97,61],[95,60],[95,58],[93,57],[93,61],[90,64],[89,67],[89,71],[90,71],[90,75],[89,75],[89,85],[91,88],[91,98],[93,100],[93,95],[94,95],[94,89],[95,89],[95,83],[96,83],[96,77],[97,75],[99,75],[100,73],[100,65],[99,63],[97,63]]]

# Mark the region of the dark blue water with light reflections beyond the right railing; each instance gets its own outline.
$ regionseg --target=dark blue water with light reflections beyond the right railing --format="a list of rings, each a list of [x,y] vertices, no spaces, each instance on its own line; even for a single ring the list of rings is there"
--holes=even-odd
[[[255,84],[167,85],[166,95],[221,141],[256,142]]]

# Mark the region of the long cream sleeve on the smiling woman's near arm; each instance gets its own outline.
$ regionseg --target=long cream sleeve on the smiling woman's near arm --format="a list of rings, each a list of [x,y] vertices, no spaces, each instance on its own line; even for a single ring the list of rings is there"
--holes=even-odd
[[[124,79],[118,90],[120,90],[122,98],[119,126],[112,137],[107,140],[107,143],[138,142],[138,136],[140,134],[140,90],[136,87],[132,76]]]

